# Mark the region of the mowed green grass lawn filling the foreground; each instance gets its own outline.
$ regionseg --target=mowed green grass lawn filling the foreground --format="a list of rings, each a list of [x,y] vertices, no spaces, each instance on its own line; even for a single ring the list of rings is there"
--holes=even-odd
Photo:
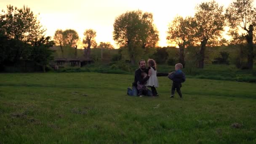
[[[126,94],[133,75],[0,74],[0,144],[256,143],[256,83],[187,78],[184,98]]]

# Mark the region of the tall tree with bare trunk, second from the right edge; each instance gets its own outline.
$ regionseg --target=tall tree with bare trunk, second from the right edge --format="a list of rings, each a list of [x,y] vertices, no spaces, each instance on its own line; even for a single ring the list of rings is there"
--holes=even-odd
[[[205,47],[209,39],[218,40],[224,29],[223,6],[214,0],[197,5],[195,13],[195,37],[200,42],[199,68],[204,67]]]

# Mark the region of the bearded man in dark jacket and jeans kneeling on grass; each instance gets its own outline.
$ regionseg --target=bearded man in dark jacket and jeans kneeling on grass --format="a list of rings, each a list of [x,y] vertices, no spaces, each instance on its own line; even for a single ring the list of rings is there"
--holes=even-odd
[[[147,76],[143,77],[141,74],[142,72],[146,72]],[[137,69],[135,71],[132,89],[128,88],[127,94],[129,96],[138,96],[138,89],[137,89],[138,81],[139,81],[139,83],[145,83],[145,82],[147,82],[147,80],[149,79],[150,76],[151,76],[151,71],[149,71],[149,69],[146,69],[146,61],[144,59],[141,59],[139,61],[139,69]],[[168,73],[157,72],[157,76],[158,77],[168,76]],[[147,88],[147,96],[152,96],[152,91],[150,91],[148,88]]]

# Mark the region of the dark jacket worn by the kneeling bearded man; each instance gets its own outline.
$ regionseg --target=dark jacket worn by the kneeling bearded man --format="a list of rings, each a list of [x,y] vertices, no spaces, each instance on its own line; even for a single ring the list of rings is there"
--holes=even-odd
[[[137,87],[137,82],[139,81],[140,83],[145,83],[147,82],[147,80],[149,79],[149,76],[143,78],[141,75],[141,69],[137,69],[135,71],[135,76],[134,76],[134,82],[133,82],[133,86]],[[147,74],[149,74],[149,69],[145,69],[145,71]],[[164,73],[164,72],[157,72],[157,77],[162,77],[162,76],[168,76],[168,73]]]

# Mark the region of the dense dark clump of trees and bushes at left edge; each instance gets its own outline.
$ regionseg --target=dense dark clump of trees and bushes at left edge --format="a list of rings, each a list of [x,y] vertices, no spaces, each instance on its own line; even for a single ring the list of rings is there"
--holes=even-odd
[[[45,37],[37,16],[30,8],[7,6],[0,13],[0,67],[15,65],[19,61],[34,61],[43,67],[52,57],[49,48],[54,45],[51,37]]]

